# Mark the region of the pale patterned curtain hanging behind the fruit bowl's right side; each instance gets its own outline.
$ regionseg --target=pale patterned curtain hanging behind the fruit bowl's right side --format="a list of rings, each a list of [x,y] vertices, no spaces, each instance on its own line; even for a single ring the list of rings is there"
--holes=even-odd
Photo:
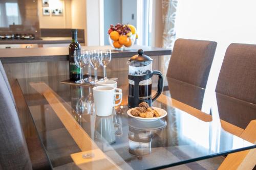
[[[178,0],[162,0],[162,19],[163,19],[163,42],[162,47],[173,48],[175,41],[175,18]],[[166,75],[170,56],[160,58],[161,72]]]

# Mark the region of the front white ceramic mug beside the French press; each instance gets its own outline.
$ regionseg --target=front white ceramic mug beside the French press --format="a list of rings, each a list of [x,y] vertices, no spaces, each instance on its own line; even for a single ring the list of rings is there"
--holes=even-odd
[[[118,99],[116,99],[116,95]],[[111,86],[97,86],[93,88],[93,99],[95,103],[95,111],[98,116],[109,116],[112,114],[113,107],[118,106],[122,102],[122,93],[115,92],[115,88]],[[117,104],[115,101],[120,100]]]

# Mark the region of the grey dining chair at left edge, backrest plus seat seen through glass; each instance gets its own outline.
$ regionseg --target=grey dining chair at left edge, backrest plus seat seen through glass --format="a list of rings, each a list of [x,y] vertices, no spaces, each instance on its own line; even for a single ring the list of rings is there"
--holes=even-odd
[[[1,61],[0,82],[0,169],[50,169],[38,136],[24,137]]]

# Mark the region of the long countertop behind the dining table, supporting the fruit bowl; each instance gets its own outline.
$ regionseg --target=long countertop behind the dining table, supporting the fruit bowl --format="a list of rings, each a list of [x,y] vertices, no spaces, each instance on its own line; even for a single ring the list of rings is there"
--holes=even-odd
[[[46,40],[46,39],[45,39]],[[30,40],[37,41],[37,40]],[[42,40],[44,41],[44,40]],[[47,41],[47,40],[46,40]],[[142,48],[145,55],[164,56],[170,55],[172,50],[159,47],[133,45],[131,50],[112,50],[112,58],[132,57]],[[108,46],[82,46],[84,50],[113,49]],[[2,63],[31,63],[49,61],[67,61],[69,57],[68,47],[40,47],[40,48],[6,48],[0,49],[0,60]]]

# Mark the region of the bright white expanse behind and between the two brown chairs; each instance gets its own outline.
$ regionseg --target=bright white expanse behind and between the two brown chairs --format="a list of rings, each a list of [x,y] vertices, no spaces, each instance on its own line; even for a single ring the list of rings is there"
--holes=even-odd
[[[254,0],[180,0],[177,38],[217,41],[210,82],[215,88],[227,46],[232,42],[256,44],[256,1]]]

